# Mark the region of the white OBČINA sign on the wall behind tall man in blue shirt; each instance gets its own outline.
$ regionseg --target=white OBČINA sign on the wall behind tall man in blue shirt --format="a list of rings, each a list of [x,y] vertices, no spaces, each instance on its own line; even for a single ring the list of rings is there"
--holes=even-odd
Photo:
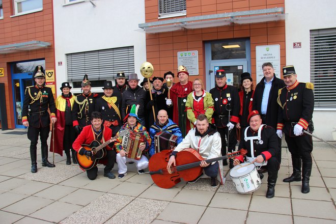
[[[256,70],[257,70],[257,83],[264,77],[262,65],[270,62],[273,65],[275,76],[280,78],[280,45],[263,45],[256,46]]]

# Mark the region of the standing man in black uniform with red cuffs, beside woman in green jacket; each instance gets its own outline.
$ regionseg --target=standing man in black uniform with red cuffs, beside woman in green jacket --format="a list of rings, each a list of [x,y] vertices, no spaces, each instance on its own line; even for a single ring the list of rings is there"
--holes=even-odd
[[[234,86],[227,85],[227,77],[224,70],[216,71],[216,87],[210,90],[215,103],[215,111],[212,118],[215,120],[217,131],[221,137],[221,154],[226,155],[226,137],[229,140],[228,151],[236,149],[237,133],[235,125],[239,121],[240,101],[238,90]],[[230,118],[229,118],[229,110]],[[230,134],[229,134],[230,133]],[[228,165],[223,160],[223,165]],[[230,159],[230,169],[233,168],[233,160]]]

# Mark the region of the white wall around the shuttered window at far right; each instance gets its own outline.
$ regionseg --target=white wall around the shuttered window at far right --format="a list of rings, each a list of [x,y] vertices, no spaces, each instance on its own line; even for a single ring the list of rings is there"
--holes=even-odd
[[[286,65],[294,65],[298,81],[310,81],[310,30],[336,27],[335,9],[334,0],[285,0]],[[293,42],[301,42],[302,47],[293,48]],[[336,108],[315,110],[315,134],[331,141],[335,117]]]

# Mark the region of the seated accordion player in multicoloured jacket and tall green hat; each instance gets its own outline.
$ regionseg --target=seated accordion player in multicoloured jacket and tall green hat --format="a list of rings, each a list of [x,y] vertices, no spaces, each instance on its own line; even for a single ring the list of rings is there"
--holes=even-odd
[[[146,169],[148,167],[148,159],[144,154],[144,151],[147,151],[149,149],[149,146],[151,145],[151,137],[149,136],[146,127],[143,126],[140,123],[139,118],[137,117],[137,110],[138,107],[136,108],[135,104],[132,105],[131,109],[130,109],[130,113],[128,115],[126,115],[126,117],[124,118],[124,122],[127,121],[120,130],[128,130],[129,134],[123,136],[123,137],[118,137],[115,143],[115,148],[117,151],[117,163],[118,163],[118,178],[119,179],[123,179],[126,174],[127,174],[127,165],[126,162],[134,162],[137,168],[137,173],[138,174],[143,174],[145,173],[144,169]],[[119,134],[119,132],[117,133]],[[131,155],[128,152],[128,149],[125,148],[125,141],[126,139],[128,139],[127,141],[133,141],[133,139],[131,139],[131,134],[138,134],[141,135],[141,139],[143,140],[143,142],[141,141],[137,141],[137,142],[141,142],[139,143],[137,149],[141,151],[141,156],[139,156],[139,158],[130,158]],[[129,145],[126,143],[126,146]],[[131,145],[135,145],[131,144]],[[133,154],[133,153],[132,153]]]

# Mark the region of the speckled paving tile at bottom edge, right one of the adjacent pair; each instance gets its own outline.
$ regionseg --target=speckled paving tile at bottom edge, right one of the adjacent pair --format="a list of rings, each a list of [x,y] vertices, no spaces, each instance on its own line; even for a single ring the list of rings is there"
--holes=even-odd
[[[135,199],[123,208],[123,212],[119,212],[109,220],[106,224],[118,223],[150,223],[169,202],[151,200],[151,199]],[[128,215],[125,215],[128,214]],[[144,215],[146,214],[146,215]]]

